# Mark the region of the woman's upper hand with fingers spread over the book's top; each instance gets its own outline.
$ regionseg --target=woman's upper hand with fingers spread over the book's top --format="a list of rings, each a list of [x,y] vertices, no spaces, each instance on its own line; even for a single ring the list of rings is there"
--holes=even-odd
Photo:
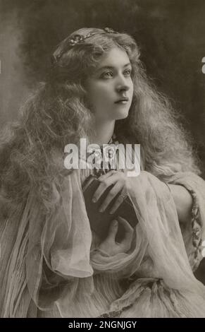
[[[125,178],[126,174],[124,172],[119,171],[111,171],[107,174],[101,175],[99,177],[99,181],[101,182],[95,191],[92,201],[95,203],[99,200],[101,195],[104,193],[104,191],[108,188],[108,186],[111,186],[113,184],[113,188],[108,192],[108,195],[106,196],[104,202],[102,203],[101,207],[99,208],[100,212],[104,212],[106,208],[108,207],[109,203],[115,198],[121,191],[120,196],[116,199],[115,203],[113,204],[110,213],[114,213],[121,203],[123,203],[123,200],[125,199],[126,190],[125,190]]]

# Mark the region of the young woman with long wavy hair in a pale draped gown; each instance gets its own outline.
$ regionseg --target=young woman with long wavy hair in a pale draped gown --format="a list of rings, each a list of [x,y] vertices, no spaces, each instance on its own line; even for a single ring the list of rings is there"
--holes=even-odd
[[[45,83],[1,139],[2,317],[204,317],[204,181],[177,115],[147,80],[129,35],[82,28],[63,40]],[[138,143],[141,172],[67,170],[68,143]],[[138,220],[89,225],[82,185],[129,196]],[[110,211],[113,213],[113,211]],[[119,226],[124,237],[118,242]]]

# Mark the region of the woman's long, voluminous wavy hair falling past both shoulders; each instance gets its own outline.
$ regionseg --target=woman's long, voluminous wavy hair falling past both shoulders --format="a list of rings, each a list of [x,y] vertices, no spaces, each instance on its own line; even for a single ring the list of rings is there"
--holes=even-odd
[[[68,38],[89,32],[99,33],[69,46]],[[199,174],[190,138],[168,99],[148,80],[135,40],[125,33],[102,32],[82,28],[58,45],[46,82],[27,99],[18,122],[1,135],[1,199],[18,204],[32,188],[46,211],[54,206],[54,184],[60,190],[66,172],[64,147],[78,144],[80,138],[89,141],[89,132],[94,130],[85,80],[112,47],[127,52],[134,83],[129,115],[116,121],[120,142],[141,144],[145,170],[164,181],[178,171]]]

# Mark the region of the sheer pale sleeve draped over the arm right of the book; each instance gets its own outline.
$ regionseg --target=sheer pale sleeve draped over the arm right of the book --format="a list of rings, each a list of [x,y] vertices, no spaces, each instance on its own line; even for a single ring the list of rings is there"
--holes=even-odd
[[[204,181],[197,175],[183,173],[178,174],[172,183],[187,183],[196,191],[201,223],[204,223]],[[147,254],[153,261],[151,273],[155,271],[156,276],[171,288],[192,289],[205,297],[204,286],[192,273],[175,203],[166,184],[143,171],[139,177],[128,178],[127,188],[142,233],[149,243]],[[202,232],[203,227],[201,236]]]

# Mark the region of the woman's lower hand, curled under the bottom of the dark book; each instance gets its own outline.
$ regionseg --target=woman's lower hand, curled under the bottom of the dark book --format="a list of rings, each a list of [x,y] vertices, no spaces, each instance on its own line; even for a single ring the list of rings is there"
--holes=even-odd
[[[116,242],[116,235],[118,232],[118,223],[121,223],[125,230],[125,237],[118,243]],[[108,231],[108,236],[101,242],[99,249],[104,251],[109,256],[114,256],[122,252],[126,253],[130,250],[132,244],[132,236],[134,229],[130,226],[127,220],[118,217],[117,220],[113,220]]]

